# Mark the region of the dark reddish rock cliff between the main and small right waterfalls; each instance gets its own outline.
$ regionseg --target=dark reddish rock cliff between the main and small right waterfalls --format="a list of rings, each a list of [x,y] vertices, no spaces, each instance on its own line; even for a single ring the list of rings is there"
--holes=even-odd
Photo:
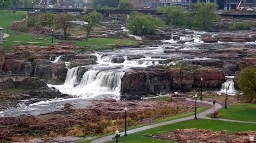
[[[122,97],[129,95],[157,95],[168,92],[189,91],[193,87],[201,86],[201,78],[204,79],[205,88],[219,89],[225,81],[225,74],[220,69],[199,68],[183,70],[180,68],[164,69],[163,66],[151,66],[147,68],[132,68],[122,78]]]

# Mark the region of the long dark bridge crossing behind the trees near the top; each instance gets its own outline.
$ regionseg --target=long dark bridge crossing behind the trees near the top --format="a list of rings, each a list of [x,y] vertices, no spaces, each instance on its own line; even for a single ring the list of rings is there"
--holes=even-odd
[[[47,11],[47,12],[75,12],[82,13],[82,9],[67,9],[67,8],[11,8],[12,10],[19,11]],[[87,12],[91,13],[94,9],[88,9]],[[109,14],[131,14],[133,11],[137,11],[144,14],[151,15],[161,15],[157,10],[119,10],[119,9],[109,9],[109,10],[96,10],[99,13],[109,15]],[[233,17],[233,18],[256,18],[254,14],[219,14],[221,17]]]

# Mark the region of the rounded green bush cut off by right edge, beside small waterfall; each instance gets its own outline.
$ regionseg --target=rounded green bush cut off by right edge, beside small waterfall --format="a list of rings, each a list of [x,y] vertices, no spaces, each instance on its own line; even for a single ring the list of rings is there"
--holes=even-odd
[[[247,67],[242,70],[238,86],[244,92],[248,101],[253,102],[256,99],[256,66]]]

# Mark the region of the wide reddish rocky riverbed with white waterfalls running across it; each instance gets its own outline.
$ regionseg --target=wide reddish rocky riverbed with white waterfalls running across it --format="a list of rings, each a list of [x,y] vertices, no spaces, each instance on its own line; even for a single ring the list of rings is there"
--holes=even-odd
[[[111,50],[84,53],[74,52],[81,48],[74,43],[26,45],[0,55],[5,59],[0,67],[0,139],[11,140],[14,134],[34,136],[32,130],[65,136],[68,129],[63,125],[97,123],[99,116],[115,120],[125,106],[132,109],[134,118],[145,109],[190,111],[193,107],[177,108],[180,103],[122,100],[196,90],[201,78],[204,90],[218,92],[225,89],[224,82],[232,82],[230,89],[235,90],[239,71],[256,64],[253,31],[206,33],[166,28],[142,38],[160,42],[114,45]],[[234,79],[226,81],[226,77]],[[10,93],[10,88],[20,91]],[[154,120],[141,122],[148,121]],[[102,128],[93,131],[99,133]]]

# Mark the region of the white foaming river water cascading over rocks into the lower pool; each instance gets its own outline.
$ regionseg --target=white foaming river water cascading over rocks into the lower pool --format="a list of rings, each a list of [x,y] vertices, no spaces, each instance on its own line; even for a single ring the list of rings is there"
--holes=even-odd
[[[171,50],[202,50],[198,45],[205,44],[201,40],[200,32],[195,32],[191,37],[180,37],[179,40],[194,38],[194,41],[177,44],[177,39],[165,40],[165,44],[158,47],[121,48],[116,50],[94,53],[97,56],[96,65],[79,66],[70,68],[70,62],[66,62],[68,69],[65,83],[62,85],[51,85],[63,94],[73,95],[74,98],[55,98],[47,101],[40,101],[28,104],[27,101],[20,101],[16,108],[0,111],[0,116],[19,116],[23,114],[38,115],[50,111],[60,110],[65,103],[76,103],[81,107],[90,105],[92,99],[120,99],[122,77],[126,71],[136,67],[147,67],[151,65],[175,65],[180,60],[218,60],[207,57],[198,57],[193,52],[164,53],[165,47]],[[219,43],[212,43],[218,46]],[[252,44],[252,43],[248,43]],[[49,59],[52,63],[60,60],[61,56],[53,56]],[[35,69],[37,70],[37,69]],[[82,72],[83,71],[83,72]],[[230,85],[229,85],[230,84]],[[229,85],[229,88],[227,88]],[[234,82],[227,78],[223,83],[219,94],[225,93],[235,95]]]

